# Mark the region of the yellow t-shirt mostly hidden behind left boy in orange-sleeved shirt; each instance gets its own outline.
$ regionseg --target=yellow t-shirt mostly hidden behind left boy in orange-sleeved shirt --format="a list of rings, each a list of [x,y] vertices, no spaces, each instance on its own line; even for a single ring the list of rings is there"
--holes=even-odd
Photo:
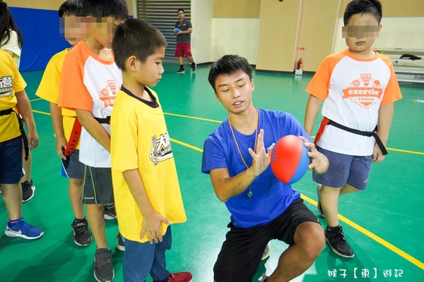
[[[68,49],[64,49],[64,51],[60,51],[52,56],[52,59],[47,63],[45,73],[42,75],[37,92],[35,92],[35,95],[41,99],[45,99],[47,102],[59,104],[61,68],[64,64],[66,54],[68,54]],[[76,112],[70,109],[61,108],[61,114],[64,126],[64,136],[66,141],[69,141],[73,123],[75,122]],[[79,140],[76,149],[79,149]]]

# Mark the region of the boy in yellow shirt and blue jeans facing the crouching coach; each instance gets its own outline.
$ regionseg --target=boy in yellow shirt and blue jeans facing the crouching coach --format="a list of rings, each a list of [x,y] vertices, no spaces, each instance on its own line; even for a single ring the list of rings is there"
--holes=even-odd
[[[112,180],[120,233],[125,238],[124,281],[192,281],[172,274],[165,251],[171,223],[186,221],[174,156],[155,86],[163,73],[166,40],[145,20],[117,27],[112,42],[123,84],[111,118]]]

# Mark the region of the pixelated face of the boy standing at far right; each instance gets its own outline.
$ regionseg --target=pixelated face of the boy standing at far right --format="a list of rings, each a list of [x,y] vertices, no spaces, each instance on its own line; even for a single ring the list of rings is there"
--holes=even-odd
[[[343,38],[346,38],[346,44],[350,51],[366,54],[370,52],[381,28],[382,25],[377,23],[374,16],[357,13],[351,16],[345,27],[342,27],[342,35]]]

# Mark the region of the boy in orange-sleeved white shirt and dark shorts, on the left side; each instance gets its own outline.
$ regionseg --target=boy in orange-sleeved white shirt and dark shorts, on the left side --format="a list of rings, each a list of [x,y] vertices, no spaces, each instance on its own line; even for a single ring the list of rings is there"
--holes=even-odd
[[[122,85],[122,73],[114,63],[114,28],[128,17],[124,0],[81,1],[86,18],[81,25],[90,35],[69,51],[62,67],[59,106],[75,109],[81,130],[79,160],[83,164],[83,195],[88,223],[97,250],[98,281],[112,281],[112,252],[105,234],[104,204],[114,202],[110,169],[110,115]]]

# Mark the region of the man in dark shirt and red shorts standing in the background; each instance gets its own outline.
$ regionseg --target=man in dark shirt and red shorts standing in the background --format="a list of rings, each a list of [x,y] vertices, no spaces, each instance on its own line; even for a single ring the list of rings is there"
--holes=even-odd
[[[192,23],[185,18],[185,13],[182,8],[177,11],[179,20],[175,23],[175,28],[179,32],[175,32],[177,35],[177,49],[175,50],[175,56],[178,57],[179,70],[177,73],[185,73],[184,71],[184,61],[182,56],[186,56],[192,63],[193,71],[196,71],[196,63],[192,56],[192,51],[190,51],[190,34],[193,32]]]

